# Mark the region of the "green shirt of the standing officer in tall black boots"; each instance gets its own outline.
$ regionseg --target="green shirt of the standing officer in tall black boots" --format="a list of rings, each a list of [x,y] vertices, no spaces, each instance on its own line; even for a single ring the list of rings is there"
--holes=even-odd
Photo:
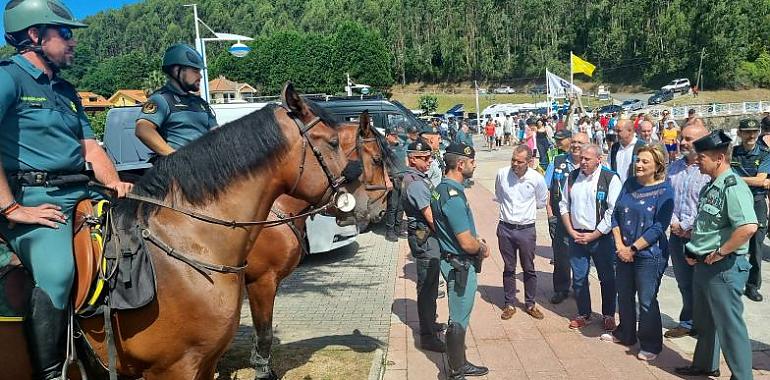
[[[457,234],[470,230],[476,237],[476,225],[473,213],[465,198],[465,189],[457,181],[446,178],[433,190],[430,201],[433,223],[436,226],[436,239],[442,253],[465,255],[457,242]]]

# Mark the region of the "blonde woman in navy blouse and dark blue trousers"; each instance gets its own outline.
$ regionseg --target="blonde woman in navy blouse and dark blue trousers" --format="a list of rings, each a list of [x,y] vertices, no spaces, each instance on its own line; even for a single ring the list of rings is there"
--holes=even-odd
[[[645,361],[663,350],[658,288],[668,264],[666,229],[674,212],[674,190],[666,181],[664,160],[664,153],[654,146],[639,149],[636,176],[624,184],[612,215],[620,324],[601,339],[628,346],[638,339],[637,358]]]

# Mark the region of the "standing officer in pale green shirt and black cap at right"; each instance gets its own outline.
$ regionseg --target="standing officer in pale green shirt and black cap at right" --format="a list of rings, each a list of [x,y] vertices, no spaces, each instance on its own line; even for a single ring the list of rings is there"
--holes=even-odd
[[[712,178],[698,199],[687,262],[694,265],[693,322],[698,330],[692,365],[684,376],[719,377],[719,350],[733,379],[751,379],[751,343],[743,321],[742,295],[751,264],[749,240],[757,231],[754,197],[730,170],[730,138],[716,130],[693,143],[701,173]]]

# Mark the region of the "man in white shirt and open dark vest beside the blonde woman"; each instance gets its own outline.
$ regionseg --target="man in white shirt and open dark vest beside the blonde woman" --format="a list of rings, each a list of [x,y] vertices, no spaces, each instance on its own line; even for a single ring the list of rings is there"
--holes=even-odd
[[[578,315],[569,324],[580,329],[591,321],[588,272],[591,259],[599,274],[602,291],[602,325],[615,329],[615,243],[610,234],[612,212],[623,186],[618,176],[601,167],[601,150],[587,144],[580,150],[580,168],[567,178],[559,202],[564,228],[572,237],[569,245],[572,290]]]

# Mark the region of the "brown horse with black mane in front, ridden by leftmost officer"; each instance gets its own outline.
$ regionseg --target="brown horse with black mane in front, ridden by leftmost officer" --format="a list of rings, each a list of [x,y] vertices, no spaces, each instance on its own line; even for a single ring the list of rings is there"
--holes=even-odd
[[[161,242],[147,244],[155,299],[140,309],[112,314],[122,379],[213,379],[238,326],[243,277],[237,267],[244,264],[262,225],[218,225],[180,210],[222,221],[260,221],[280,194],[324,204],[333,195],[330,186],[342,182],[342,173],[358,176],[346,167],[333,119],[303,101],[291,84],[282,98],[286,108],[266,107],[159,159],[134,188],[135,194],[157,201],[116,203],[119,228],[141,225]],[[188,260],[173,258],[162,245]],[[204,274],[189,259],[228,270]],[[103,319],[79,319],[78,324],[99,364],[106,365]],[[7,343],[0,342],[5,346],[0,352],[22,347]]]

